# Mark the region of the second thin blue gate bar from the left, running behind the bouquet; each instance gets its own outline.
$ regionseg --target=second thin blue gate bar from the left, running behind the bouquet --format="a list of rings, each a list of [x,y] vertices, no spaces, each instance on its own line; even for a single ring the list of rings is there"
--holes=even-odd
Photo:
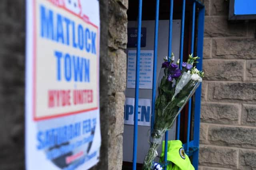
[[[154,129],[155,120],[155,101],[156,101],[156,68],[157,68],[157,43],[158,43],[158,20],[159,18],[159,0],[156,0],[156,20],[154,37],[154,64],[153,64],[153,84],[152,84],[152,110],[151,110],[151,133]]]

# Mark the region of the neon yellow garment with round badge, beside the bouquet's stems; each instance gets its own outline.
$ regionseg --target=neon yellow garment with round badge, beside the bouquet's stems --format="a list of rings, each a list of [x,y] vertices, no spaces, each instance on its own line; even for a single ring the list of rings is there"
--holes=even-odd
[[[167,160],[172,163],[167,165],[166,170],[195,170],[181,141],[168,141]],[[164,141],[160,162],[164,162]]]

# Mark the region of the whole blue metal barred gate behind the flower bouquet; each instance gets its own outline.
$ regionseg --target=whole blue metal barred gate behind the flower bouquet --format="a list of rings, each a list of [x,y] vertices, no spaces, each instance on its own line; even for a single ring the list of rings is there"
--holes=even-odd
[[[154,34],[154,66],[153,66],[153,84],[152,84],[152,115],[151,115],[151,132],[154,126],[154,109],[156,99],[156,66],[157,66],[157,49],[158,49],[158,21],[159,21],[159,1],[156,0],[156,19],[155,19],[155,34]],[[169,19],[169,44],[168,44],[168,56],[171,56],[172,52],[172,18],[173,18],[173,3],[174,0],[170,0],[170,19]],[[197,68],[202,70],[202,58],[203,58],[203,40],[204,40],[204,5],[198,0],[189,0],[192,2],[192,33],[191,33],[191,52],[194,53],[194,40],[196,39],[196,55],[200,57],[197,63]],[[184,23],[185,23],[185,6],[186,0],[183,0],[182,4],[182,18],[181,18],[181,34],[180,34],[180,69],[182,69],[183,61],[183,48],[184,48]],[[196,20],[197,14],[197,20]],[[197,24],[196,24],[197,23]],[[134,141],[133,141],[133,170],[136,170],[137,160],[137,136],[138,136],[138,99],[139,99],[139,75],[140,75],[140,39],[141,39],[141,24],[142,24],[142,0],[139,0],[138,6],[138,39],[137,39],[137,56],[136,56],[136,85],[135,85],[135,104],[134,104]],[[197,28],[195,27],[197,25]],[[195,32],[196,30],[196,32]],[[196,170],[198,170],[198,149],[199,149],[199,130],[200,130],[200,104],[201,104],[201,85],[198,87],[194,94],[194,103],[192,107],[191,99],[188,102],[188,125],[186,143],[184,148],[188,156],[192,156],[192,164]],[[191,111],[194,109],[194,129],[193,140],[190,141],[190,122]],[[177,131],[176,139],[180,139],[180,115],[177,118]],[[167,158],[167,140],[168,132],[165,133],[165,152],[164,161]],[[166,169],[166,167],[165,167]]]

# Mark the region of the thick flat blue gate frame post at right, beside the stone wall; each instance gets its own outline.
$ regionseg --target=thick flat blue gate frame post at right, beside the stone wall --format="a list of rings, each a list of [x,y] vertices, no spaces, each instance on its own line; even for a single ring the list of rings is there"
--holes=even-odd
[[[198,70],[202,70],[203,62],[203,45],[204,45],[204,7],[200,8],[198,13],[198,41],[197,41],[197,55],[200,57],[197,63]],[[194,146],[199,147],[199,135],[200,135],[200,109],[201,109],[201,84],[195,93],[195,108],[194,108]],[[198,170],[198,150],[193,154],[192,158],[193,166],[195,170]]]

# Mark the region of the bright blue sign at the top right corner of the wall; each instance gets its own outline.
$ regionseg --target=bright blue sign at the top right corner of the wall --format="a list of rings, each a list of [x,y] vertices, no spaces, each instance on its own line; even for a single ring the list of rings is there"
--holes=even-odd
[[[235,15],[253,15],[256,14],[256,0],[235,0]]]

